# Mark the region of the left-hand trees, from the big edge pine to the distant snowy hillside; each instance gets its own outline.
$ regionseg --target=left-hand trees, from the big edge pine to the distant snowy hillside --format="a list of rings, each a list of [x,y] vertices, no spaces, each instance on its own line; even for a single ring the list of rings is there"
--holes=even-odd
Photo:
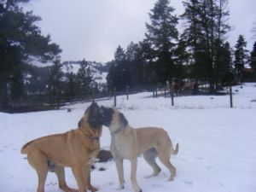
[[[0,1],[0,109],[12,101],[60,102],[106,90],[101,73],[108,69],[101,63],[61,63],[59,45],[36,25],[40,17],[22,9],[29,2]]]

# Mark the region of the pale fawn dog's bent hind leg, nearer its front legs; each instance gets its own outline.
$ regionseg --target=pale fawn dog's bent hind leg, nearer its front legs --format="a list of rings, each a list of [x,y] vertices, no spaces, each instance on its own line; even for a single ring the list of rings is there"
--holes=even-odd
[[[156,164],[156,162],[155,162],[155,159],[157,157],[156,149],[155,148],[148,149],[148,151],[146,151],[143,154],[143,157],[147,161],[149,166],[151,166],[153,168],[153,171],[154,171],[151,175],[147,176],[146,178],[158,176],[158,174],[160,173],[161,169],[160,169],[160,166],[158,166]]]

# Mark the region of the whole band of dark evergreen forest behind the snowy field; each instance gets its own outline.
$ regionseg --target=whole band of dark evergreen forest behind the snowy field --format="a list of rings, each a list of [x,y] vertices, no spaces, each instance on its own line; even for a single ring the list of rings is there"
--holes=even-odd
[[[256,42],[247,50],[243,34],[235,47],[227,41],[232,30],[228,0],[184,0],[182,15],[174,14],[169,0],[157,0],[144,38],[126,48],[117,44],[113,61],[107,63],[61,61],[60,46],[37,26],[41,18],[22,9],[27,3],[0,2],[1,110],[12,102],[68,101],[166,82],[204,82],[214,94],[224,85],[255,81]],[[178,23],[183,23],[182,30]],[[64,70],[67,65],[79,67]],[[108,73],[106,82],[99,83],[103,73]]]

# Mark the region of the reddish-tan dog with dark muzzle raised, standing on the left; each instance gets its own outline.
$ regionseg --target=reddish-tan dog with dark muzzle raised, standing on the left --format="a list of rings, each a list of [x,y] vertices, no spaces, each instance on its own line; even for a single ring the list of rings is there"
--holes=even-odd
[[[99,137],[102,136],[102,114],[93,102],[79,121],[79,128],[62,134],[40,137],[21,148],[27,154],[29,164],[38,173],[38,192],[44,192],[48,171],[55,172],[59,187],[66,192],[78,191],[67,186],[64,166],[72,168],[79,191],[87,188],[96,191],[90,184],[90,166],[100,150]]]

